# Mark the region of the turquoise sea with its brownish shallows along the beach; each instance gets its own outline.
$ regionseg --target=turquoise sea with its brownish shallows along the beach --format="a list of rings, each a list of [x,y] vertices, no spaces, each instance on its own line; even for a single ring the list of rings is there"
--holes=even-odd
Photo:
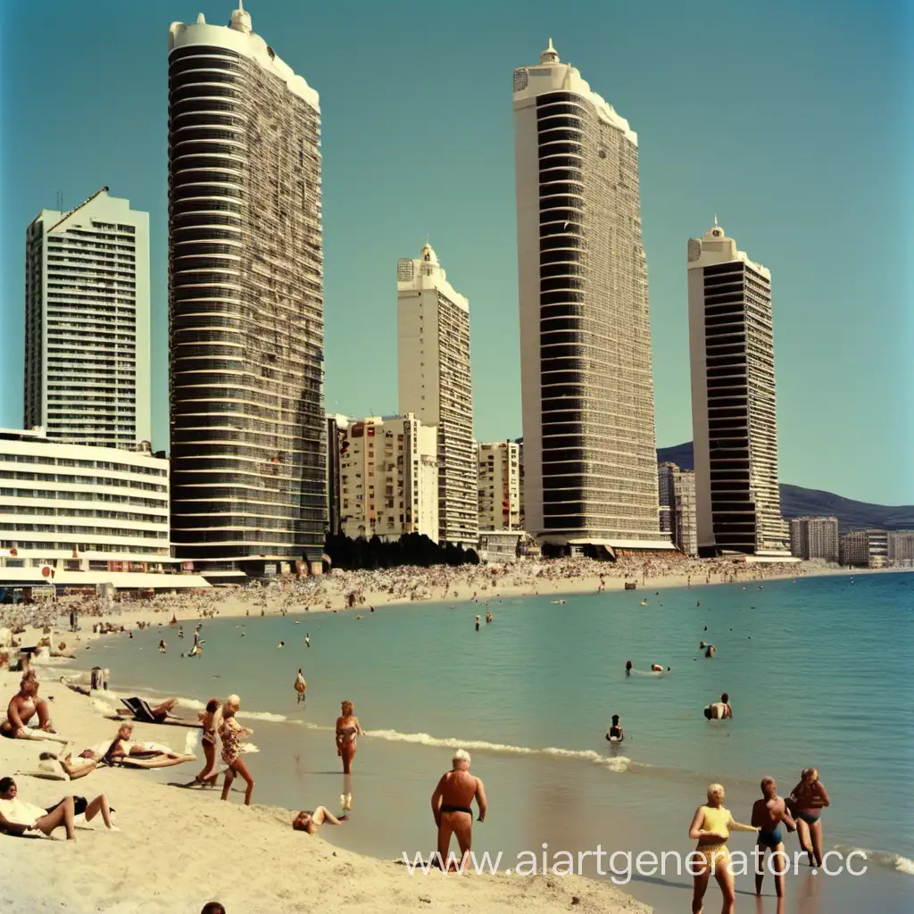
[[[725,784],[727,805],[748,822],[762,776],[786,795],[814,765],[832,799],[826,848],[884,856],[858,878],[812,877],[803,866],[788,881],[787,910],[914,907],[914,574],[556,599],[493,600],[494,623],[480,632],[482,603],[366,608],[359,621],[353,612],[207,621],[193,660],[180,656],[192,643],[185,622],[184,641],[154,628],[109,636],[81,659],[109,667],[119,692],[196,701],[238,692],[242,715],[255,712],[255,801],[291,808],[338,806],[333,725],[340,699],[352,699],[368,731],[353,821],[324,837],[378,856],[433,846],[429,796],[452,746],[473,752],[489,793],[475,845],[512,856],[544,842],[685,854],[708,781]],[[167,654],[156,650],[163,636]],[[701,640],[717,646],[714,659]],[[636,671],[657,663],[672,672],[626,677],[629,659]],[[299,666],[304,707],[292,690]],[[722,691],[734,717],[708,722],[702,708]],[[604,739],[614,713],[627,738],[619,752]],[[173,743],[183,739],[175,731]],[[177,771],[150,776],[182,780]],[[789,851],[798,846],[788,839]],[[730,847],[749,851],[751,837],[735,834]],[[636,877],[628,890],[658,911],[687,910],[688,883],[685,874]],[[739,889],[750,886],[738,878]],[[751,904],[739,898],[738,910]],[[766,903],[773,911],[774,899]]]

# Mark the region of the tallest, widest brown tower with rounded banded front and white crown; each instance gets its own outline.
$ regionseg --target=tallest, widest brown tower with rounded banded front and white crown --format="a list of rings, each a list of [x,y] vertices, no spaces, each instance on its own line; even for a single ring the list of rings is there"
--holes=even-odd
[[[168,37],[172,543],[213,576],[320,568],[317,92],[233,10]]]

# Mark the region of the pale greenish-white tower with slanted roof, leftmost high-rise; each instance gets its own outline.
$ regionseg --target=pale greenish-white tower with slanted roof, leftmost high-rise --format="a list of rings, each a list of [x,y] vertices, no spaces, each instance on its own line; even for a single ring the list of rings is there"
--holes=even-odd
[[[136,450],[152,436],[149,214],[102,187],[26,232],[25,427]]]

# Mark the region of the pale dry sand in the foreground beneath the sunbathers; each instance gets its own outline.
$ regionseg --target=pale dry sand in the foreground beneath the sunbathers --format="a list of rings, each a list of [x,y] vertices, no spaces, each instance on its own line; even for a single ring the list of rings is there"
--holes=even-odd
[[[106,693],[80,696],[48,676],[41,678],[43,695],[54,699],[55,726],[74,740],[77,753],[111,738],[117,725],[105,717],[106,708],[113,707],[104,700]],[[0,673],[0,693],[11,695],[17,682],[17,674]],[[178,750],[186,737],[183,729],[145,724],[137,724],[135,732],[139,739],[165,740]],[[324,833],[334,826],[324,825],[322,834],[314,836],[293,832],[292,810],[258,803],[244,807],[235,796],[220,802],[218,790],[178,791],[147,780],[144,771],[101,768],[77,782],[39,780],[23,773],[35,770],[39,752],[57,748],[44,741],[0,739],[0,776],[16,776],[21,797],[41,805],[69,794],[91,798],[105,793],[118,811],[115,824],[121,832],[106,832],[97,819],[89,827],[99,834],[80,829],[76,842],[64,841],[59,831],[55,839],[0,834],[5,866],[17,874],[17,885],[27,887],[21,897],[9,889],[5,892],[4,909],[11,912],[62,908],[197,914],[212,899],[220,900],[231,914],[292,914],[303,904],[330,912],[469,908],[508,914],[520,899],[534,914],[572,905],[592,914],[651,911],[609,883],[587,877],[461,877],[440,872],[410,876],[394,861],[356,854],[324,840],[332,836]],[[174,781],[191,780],[201,763],[198,750],[196,761],[175,767]],[[180,848],[179,856],[151,853],[151,844]],[[181,866],[175,866],[178,861]],[[301,879],[291,877],[292,861]],[[48,872],[55,870],[65,871],[67,879],[51,885]]]

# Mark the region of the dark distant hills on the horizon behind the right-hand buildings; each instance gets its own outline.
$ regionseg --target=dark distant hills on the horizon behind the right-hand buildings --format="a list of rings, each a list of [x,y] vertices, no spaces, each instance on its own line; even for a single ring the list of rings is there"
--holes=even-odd
[[[672,447],[657,448],[657,462],[667,461],[676,463],[683,470],[694,470],[692,442],[684,441]],[[787,519],[804,515],[834,515],[842,530],[867,526],[884,530],[914,529],[914,505],[870,505],[868,502],[844,498],[834,492],[806,489],[802,485],[788,483],[781,483],[781,515]]]

